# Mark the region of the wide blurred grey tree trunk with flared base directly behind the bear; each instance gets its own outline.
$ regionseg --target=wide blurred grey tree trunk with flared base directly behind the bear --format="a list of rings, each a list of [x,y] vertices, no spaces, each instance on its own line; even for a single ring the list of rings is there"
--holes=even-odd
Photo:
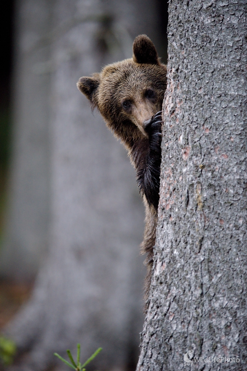
[[[23,1],[20,13],[35,4]],[[6,330],[20,351],[29,351],[18,369],[44,370],[57,361],[54,351],[65,355],[77,342],[84,359],[103,347],[94,369],[133,369],[136,362],[143,206],[126,151],[99,114],[91,114],[76,82],[130,57],[140,33],[158,44],[157,4],[57,0],[49,10],[51,32],[37,40],[36,46],[50,44],[49,60],[39,65],[40,73],[42,66],[50,72],[51,86],[50,232],[33,296]],[[38,7],[32,17],[39,19]]]

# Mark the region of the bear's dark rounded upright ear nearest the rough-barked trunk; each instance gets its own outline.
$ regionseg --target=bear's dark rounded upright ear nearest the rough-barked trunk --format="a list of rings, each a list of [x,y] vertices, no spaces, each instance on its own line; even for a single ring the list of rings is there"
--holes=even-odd
[[[158,65],[158,53],[147,35],[139,35],[133,42],[133,59],[136,63]]]

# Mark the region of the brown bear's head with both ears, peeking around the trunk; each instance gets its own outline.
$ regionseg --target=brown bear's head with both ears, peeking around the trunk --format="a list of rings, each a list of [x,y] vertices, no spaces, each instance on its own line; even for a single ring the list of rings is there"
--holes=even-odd
[[[145,127],[161,110],[166,73],[154,44],[139,35],[133,43],[133,58],[108,65],[92,77],[81,77],[77,86],[131,148],[134,141],[148,136]]]

